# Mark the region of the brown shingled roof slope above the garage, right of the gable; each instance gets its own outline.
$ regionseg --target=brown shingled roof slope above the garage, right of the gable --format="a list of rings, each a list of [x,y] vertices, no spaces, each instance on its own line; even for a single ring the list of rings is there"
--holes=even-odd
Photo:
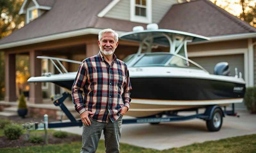
[[[159,28],[203,36],[256,32],[256,28],[229,14],[209,0],[174,4],[160,21]]]

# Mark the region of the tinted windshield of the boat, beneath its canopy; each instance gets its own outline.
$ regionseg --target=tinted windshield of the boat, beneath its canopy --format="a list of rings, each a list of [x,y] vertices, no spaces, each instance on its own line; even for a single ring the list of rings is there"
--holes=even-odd
[[[202,69],[190,60],[172,54],[145,54],[133,67],[166,66]]]

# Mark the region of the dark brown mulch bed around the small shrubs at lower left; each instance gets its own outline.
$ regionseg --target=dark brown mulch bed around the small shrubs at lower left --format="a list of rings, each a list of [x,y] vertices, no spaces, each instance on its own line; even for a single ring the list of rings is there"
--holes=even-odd
[[[42,122],[44,120],[44,117],[26,117],[21,118],[19,116],[12,116],[12,117],[3,117],[0,116],[0,119],[8,119],[11,120],[13,123],[19,123],[23,124],[26,122]],[[52,121],[58,121],[54,118],[48,118],[49,122]],[[30,135],[41,135],[44,137],[43,133],[31,133]],[[20,148],[20,147],[27,147],[27,146],[36,146],[36,145],[44,145],[44,142],[41,143],[31,143],[25,140],[26,135],[21,135],[19,139],[17,140],[10,140],[6,138],[5,136],[0,136],[0,148]],[[67,143],[67,142],[73,142],[73,141],[80,141],[82,143],[82,136],[80,135],[70,135],[66,138],[56,138],[52,136],[52,131],[48,132],[48,144],[58,144],[58,143]]]

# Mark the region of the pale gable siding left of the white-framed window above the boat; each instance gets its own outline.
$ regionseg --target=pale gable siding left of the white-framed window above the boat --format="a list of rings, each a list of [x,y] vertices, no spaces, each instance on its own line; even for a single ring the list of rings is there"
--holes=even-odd
[[[130,0],[119,1],[104,17],[130,21]]]

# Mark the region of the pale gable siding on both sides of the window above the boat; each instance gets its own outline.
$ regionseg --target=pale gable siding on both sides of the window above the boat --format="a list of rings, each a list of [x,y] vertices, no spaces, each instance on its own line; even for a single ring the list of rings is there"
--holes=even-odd
[[[159,23],[176,3],[176,0],[152,0],[152,23]],[[130,21],[130,0],[120,0],[104,17]]]

